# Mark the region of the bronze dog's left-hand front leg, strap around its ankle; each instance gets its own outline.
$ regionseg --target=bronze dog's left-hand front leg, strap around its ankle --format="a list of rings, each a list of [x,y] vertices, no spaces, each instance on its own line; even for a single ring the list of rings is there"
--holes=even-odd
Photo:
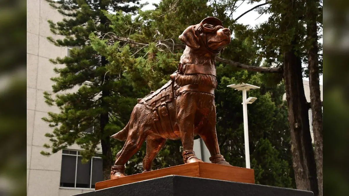
[[[176,101],[176,117],[183,145],[184,163],[202,162],[193,151],[194,147],[194,119],[197,104],[195,93],[184,92]]]

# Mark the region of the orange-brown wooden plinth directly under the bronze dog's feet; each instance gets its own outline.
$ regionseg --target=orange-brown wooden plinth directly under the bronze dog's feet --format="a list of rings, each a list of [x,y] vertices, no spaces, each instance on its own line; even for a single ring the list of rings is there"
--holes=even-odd
[[[218,165],[213,163],[189,163],[178,165],[163,169],[158,169],[150,172],[134,174],[117,178],[113,180],[106,180],[97,182],[95,190],[115,187],[132,182],[139,182],[159,178],[168,175],[181,175],[190,177],[199,177],[215,180],[227,180],[233,182],[245,182],[254,184],[254,171],[243,167]]]

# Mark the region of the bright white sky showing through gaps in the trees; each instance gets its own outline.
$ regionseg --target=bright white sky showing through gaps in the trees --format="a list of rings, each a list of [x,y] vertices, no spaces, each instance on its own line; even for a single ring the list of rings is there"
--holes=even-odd
[[[152,3],[159,3],[161,0],[140,0],[141,3],[144,2],[149,2],[149,5],[144,6],[142,8],[142,10],[148,10],[148,9],[155,9],[155,6],[152,5]],[[257,3],[253,3],[253,4],[248,4],[247,1],[245,1],[233,14],[232,14],[232,18],[237,18],[238,16],[240,16],[241,14],[243,14],[244,12],[246,12],[247,10],[251,9],[252,7],[260,4],[262,2],[257,2]],[[258,18],[259,17],[259,18]],[[252,27],[255,26],[256,24],[259,24],[261,22],[264,22],[266,20],[268,20],[269,14],[263,14],[260,16],[260,14],[258,14],[255,11],[251,11],[247,14],[245,14],[244,16],[242,16],[241,18],[239,18],[238,22],[242,23],[242,24],[249,24]],[[258,19],[257,19],[258,18]],[[320,39],[320,42],[322,43],[322,38]],[[308,80],[308,78],[304,78],[304,80]],[[320,75],[320,84],[322,85],[322,75]]]

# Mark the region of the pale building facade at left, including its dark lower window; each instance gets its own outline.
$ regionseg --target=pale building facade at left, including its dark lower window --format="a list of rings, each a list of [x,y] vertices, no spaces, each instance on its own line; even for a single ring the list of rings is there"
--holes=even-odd
[[[46,37],[59,38],[50,32],[47,20],[63,18],[45,0],[27,0],[27,195],[70,196],[94,190],[94,184],[103,179],[102,159],[92,158],[82,164],[79,146],[70,146],[45,157],[40,151],[49,143],[45,133],[52,132],[41,118],[47,112],[59,112],[45,103],[43,92],[52,91],[50,78],[57,76],[49,59],[63,57],[68,48],[57,47]],[[62,66],[62,65],[58,65]],[[74,91],[76,89],[73,89]],[[50,150],[50,149],[48,149]]]

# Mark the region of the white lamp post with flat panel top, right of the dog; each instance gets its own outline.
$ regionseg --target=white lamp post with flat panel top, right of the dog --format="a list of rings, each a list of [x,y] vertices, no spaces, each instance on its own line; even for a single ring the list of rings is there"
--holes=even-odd
[[[259,87],[251,85],[251,84],[245,84],[245,83],[230,84],[227,87],[242,91],[246,168],[251,168],[251,166],[250,166],[250,146],[248,145],[247,104],[252,104],[257,98],[255,98],[255,97],[246,98],[246,97],[247,97],[247,91],[253,90],[253,89],[259,89]]]

